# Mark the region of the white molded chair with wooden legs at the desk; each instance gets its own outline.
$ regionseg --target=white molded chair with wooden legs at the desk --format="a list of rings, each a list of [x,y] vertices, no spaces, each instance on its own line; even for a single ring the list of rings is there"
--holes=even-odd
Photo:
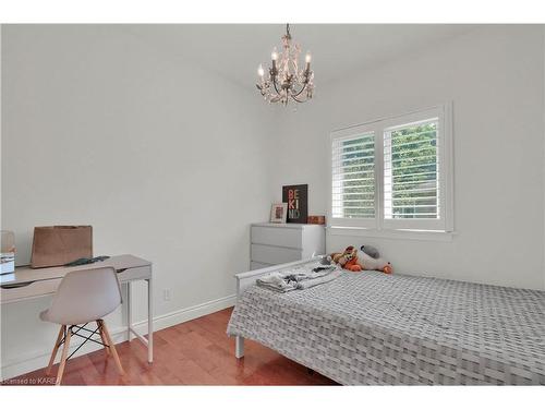
[[[51,373],[57,351],[64,344],[59,372],[57,373],[57,385],[61,384],[66,360],[88,340],[102,345],[107,356],[111,352],[119,372],[121,375],[124,374],[116,347],[102,321],[105,315],[116,310],[120,304],[121,288],[113,267],[75,270],[64,276],[53,297],[51,306],[39,315],[43,321],[61,325],[46,371],[47,375]],[[97,328],[95,330],[85,328],[90,322],[96,322]],[[80,332],[82,330],[90,334],[81,335]],[[93,339],[93,336],[97,333],[100,335],[101,342]],[[74,335],[85,340],[69,357],[70,339]]]

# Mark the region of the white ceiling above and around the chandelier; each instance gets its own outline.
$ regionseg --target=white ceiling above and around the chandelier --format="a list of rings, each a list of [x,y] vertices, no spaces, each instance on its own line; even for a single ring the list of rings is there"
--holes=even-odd
[[[254,87],[257,67],[270,65],[270,52],[281,49],[283,24],[125,25],[140,39],[165,47],[240,85]],[[403,55],[462,35],[475,25],[462,24],[291,24],[293,40],[313,55],[315,83],[342,79]]]

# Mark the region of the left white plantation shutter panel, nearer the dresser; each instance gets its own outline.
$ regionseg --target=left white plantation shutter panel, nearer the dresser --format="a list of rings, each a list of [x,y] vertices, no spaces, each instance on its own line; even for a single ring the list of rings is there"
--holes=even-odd
[[[340,225],[343,225],[342,220],[349,226],[374,225],[374,133],[334,139],[331,169],[331,217]]]

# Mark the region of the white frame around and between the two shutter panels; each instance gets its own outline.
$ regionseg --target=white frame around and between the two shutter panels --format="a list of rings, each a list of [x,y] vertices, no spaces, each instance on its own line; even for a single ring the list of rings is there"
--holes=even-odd
[[[452,232],[453,231],[453,153],[452,153],[452,104],[450,101],[398,115],[367,121],[363,124],[340,129],[330,133],[329,139],[329,207],[328,227],[348,230],[361,229],[371,231],[409,231],[409,232]],[[438,149],[438,219],[385,219],[384,185],[384,142],[385,133],[405,128],[419,122],[437,119]],[[335,141],[355,139],[364,133],[373,132],[375,144],[375,218],[334,218],[332,217],[332,145]]]

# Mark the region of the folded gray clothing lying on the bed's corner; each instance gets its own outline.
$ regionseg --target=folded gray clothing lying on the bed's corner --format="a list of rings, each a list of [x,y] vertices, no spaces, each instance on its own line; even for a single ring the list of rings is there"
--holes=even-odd
[[[313,268],[315,267],[315,268]],[[256,280],[259,287],[268,288],[278,292],[304,290],[314,286],[329,282],[342,272],[337,266],[308,266],[284,269],[270,273]]]

